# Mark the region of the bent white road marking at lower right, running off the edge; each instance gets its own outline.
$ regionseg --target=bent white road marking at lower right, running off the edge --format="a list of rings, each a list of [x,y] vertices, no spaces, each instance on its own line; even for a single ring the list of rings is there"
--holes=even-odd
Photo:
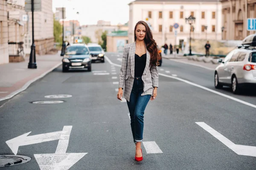
[[[195,122],[195,123],[198,124],[199,126],[201,126],[204,130],[209,132],[212,136],[214,136],[216,139],[221,141],[223,144],[225,144],[228,148],[233,150],[238,155],[256,157],[256,147],[255,146],[234,144],[233,142],[231,142],[225,136],[221,135],[221,133],[218,133],[216,130],[214,130],[212,127],[210,127],[206,123],[204,123],[204,122]]]

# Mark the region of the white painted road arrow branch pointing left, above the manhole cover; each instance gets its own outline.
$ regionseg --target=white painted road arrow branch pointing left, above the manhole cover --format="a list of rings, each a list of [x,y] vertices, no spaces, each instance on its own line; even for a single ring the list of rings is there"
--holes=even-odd
[[[25,146],[29,144],[37,144],[41,142],[48,142],[60,139],[62,131],[43,133],[39,135],[28,136],[29,133],[25,133],[16,138],[6,141],[6,144],[10,147],[12,152],[16,155],[20,146]]]

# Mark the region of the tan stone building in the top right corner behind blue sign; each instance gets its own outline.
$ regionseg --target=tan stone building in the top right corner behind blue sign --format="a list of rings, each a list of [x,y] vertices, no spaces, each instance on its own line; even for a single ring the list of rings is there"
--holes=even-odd
[[[223,40],[243,40],[255,31],[247,31],[247,18],[256,18],[256,0],[221,0]]]

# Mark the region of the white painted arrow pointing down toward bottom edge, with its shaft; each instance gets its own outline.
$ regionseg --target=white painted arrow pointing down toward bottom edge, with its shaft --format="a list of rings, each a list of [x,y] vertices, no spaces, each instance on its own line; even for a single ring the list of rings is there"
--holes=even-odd
[[[87,153],[66,153],[72,126],[64,126],[55,153],[34,154],[40,170],[68,170]]]

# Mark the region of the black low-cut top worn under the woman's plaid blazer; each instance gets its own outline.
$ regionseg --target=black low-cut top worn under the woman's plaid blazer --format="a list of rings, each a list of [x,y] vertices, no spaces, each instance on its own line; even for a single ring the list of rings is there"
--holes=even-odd
[[[134,77],[142,77],[146,66],[146,60],[147,54],[143,54],[141,57],[135,54]]]

